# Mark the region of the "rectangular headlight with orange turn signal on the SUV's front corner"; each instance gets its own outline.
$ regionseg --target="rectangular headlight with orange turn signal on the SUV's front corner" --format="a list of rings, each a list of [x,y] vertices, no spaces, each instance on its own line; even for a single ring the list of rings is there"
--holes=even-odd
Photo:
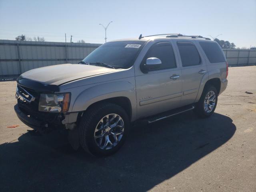
[[[39,111],[67,112],[70,104],[70,93],[40,94]]]

